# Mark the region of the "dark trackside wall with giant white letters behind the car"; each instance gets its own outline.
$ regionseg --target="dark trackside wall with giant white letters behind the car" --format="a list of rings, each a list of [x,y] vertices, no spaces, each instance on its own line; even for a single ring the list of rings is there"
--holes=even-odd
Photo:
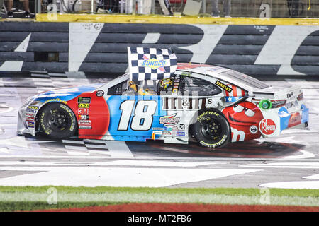
[[[250,75],[319,73],[319,26],[33,22],[0,23],[0,71],[123,73],[128,46]]]

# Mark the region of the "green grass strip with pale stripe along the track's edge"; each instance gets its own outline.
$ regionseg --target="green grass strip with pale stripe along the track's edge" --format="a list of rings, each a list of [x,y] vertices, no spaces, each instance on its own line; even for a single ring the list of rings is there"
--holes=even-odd
[[[319,191],[316,189],[0,186],[0,211],[105,206],[115,203],[319,206]]]

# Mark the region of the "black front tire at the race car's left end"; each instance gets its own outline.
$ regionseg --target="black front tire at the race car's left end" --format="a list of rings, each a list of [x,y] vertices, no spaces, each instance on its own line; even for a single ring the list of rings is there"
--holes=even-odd
[[[45,105],[39,115],[40,130],[50,138],[69,138],[77,131],[77,118],[72,109],[59,102]]]

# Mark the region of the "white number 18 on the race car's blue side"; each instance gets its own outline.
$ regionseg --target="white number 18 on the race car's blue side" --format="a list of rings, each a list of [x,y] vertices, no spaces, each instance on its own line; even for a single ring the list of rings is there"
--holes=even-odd
[[[118,131],[128,130],[130,116],[133,112],[135,100],[125,100],[121,103],[121,119],[118,123]],[[153,115],[157,109],[155,100],[139,100],[135,106],[134,115],[130,123],[130,128],[135,131],[147,131],[152,127]]]

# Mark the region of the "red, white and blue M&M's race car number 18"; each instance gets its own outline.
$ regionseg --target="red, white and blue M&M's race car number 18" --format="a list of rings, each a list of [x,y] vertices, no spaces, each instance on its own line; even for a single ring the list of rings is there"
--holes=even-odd
[[[208,148],[297,125],[308,126],[300,87],[272,87],[232,69],[190,63],[158,81],[130,81],[125,73],[108,83],[46,91],[18,110],[18,134],[184,144],[195,138]]]

